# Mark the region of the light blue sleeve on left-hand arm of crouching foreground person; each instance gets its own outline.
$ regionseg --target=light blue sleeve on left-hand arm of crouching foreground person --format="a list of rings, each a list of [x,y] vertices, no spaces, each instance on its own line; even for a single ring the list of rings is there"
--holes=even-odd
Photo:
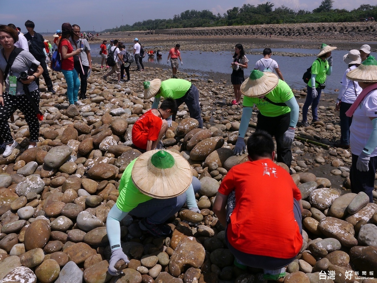
[[[116,204],[113,205],[109,214],[107,214],[106,232],[112,250],[120,247],[120,221],[122,221],[127,214],[128,212],[121,211]]]

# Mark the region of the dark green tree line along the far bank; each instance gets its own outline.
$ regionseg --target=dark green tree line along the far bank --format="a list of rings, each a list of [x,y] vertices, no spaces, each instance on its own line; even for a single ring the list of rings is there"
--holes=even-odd
[[[333,0],[323,0],[313,11],[288,8],[284,5],[274,8],[274,4],[266,2],[257,6],[244,4],[233,7],[226,13],[214,15],[209,10],[187,10],[172,19],[155,19],[136,22],[133,25],[121,25],[119,28],[106,29],[103,32],[116,31],[149,31],[153,29],[198,28],[214,26],[265,25],[282,23],[329,23],[360,22],[360,18],[377,19],[377,5],[362,4],[359,8],[348,11],[333,9]]]

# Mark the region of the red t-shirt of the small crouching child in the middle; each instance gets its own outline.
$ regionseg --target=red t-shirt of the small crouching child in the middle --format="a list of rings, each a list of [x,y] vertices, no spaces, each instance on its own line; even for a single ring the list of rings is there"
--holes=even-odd
[[[158,139],[161,126],[161,118],[153,114],[152,110],[147,111],[132,127],[133,144],[138,148],[147,149],[148,140],[155,141]]]

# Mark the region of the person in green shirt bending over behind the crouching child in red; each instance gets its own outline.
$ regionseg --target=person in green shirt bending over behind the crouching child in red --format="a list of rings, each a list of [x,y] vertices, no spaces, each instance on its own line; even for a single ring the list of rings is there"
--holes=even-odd
[[[144,82],[144,98],[149,99],[156,96],[152,108],[157,109],[160,98],[169,97],[175,100],[177,107],[186,103],[189,108],[190,117],[198,120],[199,127],[203,128],[203,118],[199,104],[199,91],[195,85],[187,80],[180,78],[170,78],[161,82],[159,78],[152,81]],[[168,126],[172,126],[172,120],[175,121],[175,115],[166,119]]]

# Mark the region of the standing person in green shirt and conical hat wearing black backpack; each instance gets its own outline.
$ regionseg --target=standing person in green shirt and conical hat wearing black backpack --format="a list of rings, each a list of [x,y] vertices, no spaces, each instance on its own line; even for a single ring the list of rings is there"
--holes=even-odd
[[[308,109],[311,105],[311,114],[313,115],[312,122],[319,121],[317,115],[318,103],[321,97],[322,89],[325,88],[326,75],[331,75],[333,72],[333,57],[331,57],[331,51],[336,47],[331,47],[322,43],[321,50],[317,55],[317,59],[311,65],[311,79],[307,86],[307,97],[302,106],[302,125],[309,126],[308,122]],[[326,60],[326,58],[328,58]],[[313,88],[314,86],[314,88]]]

